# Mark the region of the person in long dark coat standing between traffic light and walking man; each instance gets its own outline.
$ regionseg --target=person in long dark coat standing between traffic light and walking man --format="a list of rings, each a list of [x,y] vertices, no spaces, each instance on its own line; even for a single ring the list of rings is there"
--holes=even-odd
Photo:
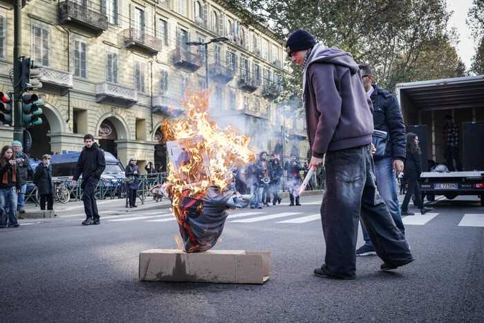
[[[54,184],[52,183],[52,165],[50,155],[42,156],[42,161],[35,168],[34,184],[40,195],[40,210],[53,210],[54,205]]]

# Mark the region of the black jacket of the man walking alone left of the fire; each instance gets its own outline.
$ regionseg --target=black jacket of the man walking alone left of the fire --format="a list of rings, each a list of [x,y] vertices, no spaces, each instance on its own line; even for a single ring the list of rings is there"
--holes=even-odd
[[[84,183],[91,177],[101,178],[102,172],[106,168],[106,160],[104,159],[104,151],[94,142],[91,148],[84,147],[81,155],[77,160],[73,180],[77,181],[82,174],[82,181]]]

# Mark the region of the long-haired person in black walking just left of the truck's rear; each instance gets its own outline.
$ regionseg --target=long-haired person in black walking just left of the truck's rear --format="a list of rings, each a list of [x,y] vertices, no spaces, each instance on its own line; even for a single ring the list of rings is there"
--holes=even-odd
[[[420,209],[422,214],[432,210],[429,207],[425,207],[422,201],[422,193],[420,192],[420,173],[422,173],[422,166],[420,161],[420,146],[418,145],[418,136],[415,133],[409,133],[407,135],[407,158],[405,158],[405,172],[404,176],[409,184],[407,193],[402,203],[402,215],[415,215],[415,213],[408,210],[409,202],[412,194],[415,196],[414,203]]]

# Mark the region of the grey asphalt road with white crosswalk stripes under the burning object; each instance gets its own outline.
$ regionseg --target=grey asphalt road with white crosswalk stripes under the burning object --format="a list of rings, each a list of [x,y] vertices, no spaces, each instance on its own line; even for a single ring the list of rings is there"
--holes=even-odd
[[[0,321],[483,322],[477,201],[437,201],[430,215],[407,217],[416,261],[382,273],[378,257],[359,257],[355,281],[313,276],[325,248],[321,221],[311,216],[319,201],[308,196],[301,207],[284,201],[227,219],[215,248],[269,250],[264,285],[140,282],[140,251],[176,248],[178,227],[166,209],[104,212],[101,225],[89,227],[80,225],[82,209],[21,221],[0,231]]]

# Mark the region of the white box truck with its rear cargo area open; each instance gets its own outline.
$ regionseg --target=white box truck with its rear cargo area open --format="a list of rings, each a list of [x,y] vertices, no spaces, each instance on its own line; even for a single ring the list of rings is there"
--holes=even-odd
[[[434,201],[436,195],[447,199],[474,195],[484,206],[484,75],[400,83],[395,93],[407,132],[420,139],[422,196]],[[446,116],[452,116],[459,127],[462,169],[431,172],[435,163],[447,164]]]

